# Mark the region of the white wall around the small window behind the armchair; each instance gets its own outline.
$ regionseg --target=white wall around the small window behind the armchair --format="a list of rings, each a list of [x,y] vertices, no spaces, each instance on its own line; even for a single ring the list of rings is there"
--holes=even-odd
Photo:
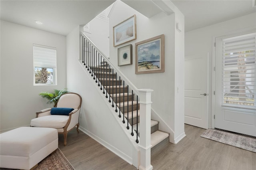
[[[57,49],[58,85],[33,85],[33,43]],[[29,126],[52,107],[38,95],[66,87],[66,37],[1,20],[1,131]]]

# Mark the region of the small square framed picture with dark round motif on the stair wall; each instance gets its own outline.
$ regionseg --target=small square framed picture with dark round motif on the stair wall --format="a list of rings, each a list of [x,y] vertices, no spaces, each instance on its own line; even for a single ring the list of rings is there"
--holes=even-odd
[[[118,48],[118,66],[132,64],[132,44]]]

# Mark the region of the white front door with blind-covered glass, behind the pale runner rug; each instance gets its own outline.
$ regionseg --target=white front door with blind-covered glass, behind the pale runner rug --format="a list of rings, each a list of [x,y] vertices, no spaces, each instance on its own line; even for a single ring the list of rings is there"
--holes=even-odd
[[[256,136],[256,30],[215,39],[215,128]]]

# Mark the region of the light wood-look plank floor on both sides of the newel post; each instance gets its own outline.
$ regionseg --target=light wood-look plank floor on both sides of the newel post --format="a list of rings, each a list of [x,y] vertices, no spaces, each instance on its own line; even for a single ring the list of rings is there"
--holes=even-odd
[[[256,170],[256,153],[200,137],[205,129],[185,125],[186,137],[178,144],[154,149],[154,170]],[[67,146],[59,134],[59,148],[76,170],[136,170],[107,148],[76,129]]]

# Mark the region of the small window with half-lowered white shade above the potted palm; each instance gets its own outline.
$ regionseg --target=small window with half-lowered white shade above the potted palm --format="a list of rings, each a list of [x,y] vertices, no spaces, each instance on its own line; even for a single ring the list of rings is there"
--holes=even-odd
[[[34,85],[57,85],[56,48],[33,44]]]

